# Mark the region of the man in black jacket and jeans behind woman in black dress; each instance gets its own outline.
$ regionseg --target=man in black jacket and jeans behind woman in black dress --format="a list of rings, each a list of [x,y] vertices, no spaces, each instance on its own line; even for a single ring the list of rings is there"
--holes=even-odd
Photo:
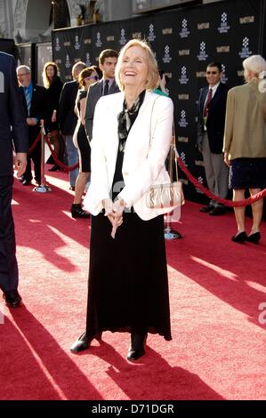
[[[60,94],[58,122],[60,133],[65,141],[69,166],[76,165],[78,162],[77,148],[73,144],[73,134],[77,125],[77,115],[74,112],[78,91],[78,76],[86,68],[85,62],[78,61],[72,67],[73,81],[63,85]],[[75,190],[78,168],[69,172],[69,189]]]

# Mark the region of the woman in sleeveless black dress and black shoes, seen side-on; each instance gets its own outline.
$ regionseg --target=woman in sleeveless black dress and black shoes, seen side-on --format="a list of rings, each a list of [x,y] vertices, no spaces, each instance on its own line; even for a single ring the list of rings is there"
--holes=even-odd
[[[75,111],[77,114],[77,126],[73,135],[73,141],[78,150],[79,157],[79,173],[75,184],[75,197],[71,206],[71,214],[73,218],[88,218],[90,215],[86,213],[82,206],[82,196],[85,191],[85,184],[89,173],[91,172],[91,147],[85,133],[85,102],[88,88],[91,84],[98,81],[99,76],[97,67],[85,68],[78,76],[79,90],[77,92],[77,100]]]

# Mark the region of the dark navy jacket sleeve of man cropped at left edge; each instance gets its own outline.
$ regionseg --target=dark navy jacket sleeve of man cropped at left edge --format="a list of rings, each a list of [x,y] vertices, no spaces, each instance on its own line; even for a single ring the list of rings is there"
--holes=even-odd
[[[17,82],[15,60],[11,58],[10,62],[9,114],[12,123],[12,139],[16,152],[28,152],[28,125]]]

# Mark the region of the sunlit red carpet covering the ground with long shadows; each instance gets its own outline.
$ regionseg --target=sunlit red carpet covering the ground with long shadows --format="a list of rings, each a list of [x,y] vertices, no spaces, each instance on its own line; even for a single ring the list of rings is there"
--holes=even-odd
[[[71,218],[66,173],[47,180],[46,194],[15,181],[24,305],[0,301],[0,399],[265,399],[266,224],[260,245],[238,245],[232,213],[211,217],[187,202],[177,225],[184,238],[166,243],[173,341],[150,335],[136,364],[125,359],[128,334],[105,333],[74,355],[85,328],[90,221]]]

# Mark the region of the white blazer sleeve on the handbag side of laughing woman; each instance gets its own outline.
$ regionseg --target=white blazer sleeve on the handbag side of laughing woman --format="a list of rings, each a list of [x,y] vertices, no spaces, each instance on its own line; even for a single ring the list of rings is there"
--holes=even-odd
[[[139,165],[125,182],[125,188],[118,198],[124,199],[126,206],[133,206],[157,181],[169,152],[173,133],[173,101],[158,96],[152,116],[156,117],[148,157]],[[148,122],[150,123],[150,121]]]

